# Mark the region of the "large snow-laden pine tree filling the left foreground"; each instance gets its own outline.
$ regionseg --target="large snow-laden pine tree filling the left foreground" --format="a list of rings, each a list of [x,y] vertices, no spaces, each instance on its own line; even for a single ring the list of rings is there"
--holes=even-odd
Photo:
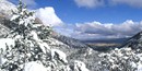
[[[33,14],[20,0],[12,31],[0,39],[0,71],[88,71],[83,62],[70,64],[64,52],[48,46],[51,28],[37,26]]]

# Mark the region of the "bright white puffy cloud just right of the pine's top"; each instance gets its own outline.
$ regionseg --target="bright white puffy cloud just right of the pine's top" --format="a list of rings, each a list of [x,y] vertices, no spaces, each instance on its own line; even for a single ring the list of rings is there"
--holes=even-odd
[[[36,16],[40,19],[45,25],[62,25],[62,21],[57,16],[54,8],[51,7],[40,8],[36,10]]]

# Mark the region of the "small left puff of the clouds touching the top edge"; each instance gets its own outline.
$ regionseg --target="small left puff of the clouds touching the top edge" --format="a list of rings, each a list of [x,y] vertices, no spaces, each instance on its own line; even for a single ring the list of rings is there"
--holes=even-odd
[[[104,0],[74,0],[79,7],[95,8],[104,4]]]

